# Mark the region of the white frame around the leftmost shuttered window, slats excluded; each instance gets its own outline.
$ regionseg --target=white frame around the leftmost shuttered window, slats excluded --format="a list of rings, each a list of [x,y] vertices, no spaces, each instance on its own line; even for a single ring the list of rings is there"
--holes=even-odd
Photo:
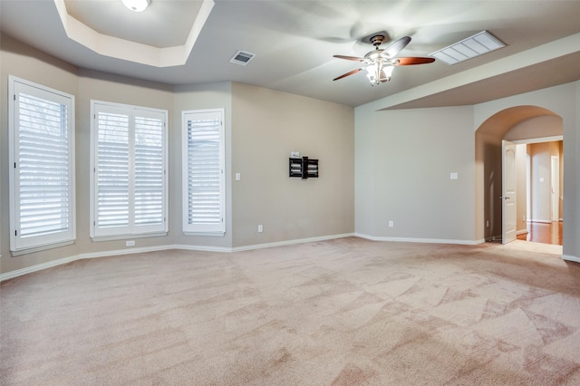
[[[18,94],[25,93],[45,101],[57,102],[66,106],[66,144],[67,144],[67,227],[62,231],[54,231],[36,236],[23,237],[20,232],[20,179],[17,172],[20,160],[20,146],[17,142],[20,129],[16,128],[20,118],[16,117],[16,109],[20,102]],[[13,75],[8,75],[8,173],[10,202],[10,250],[14,256],[42,251],[45,249],[71,245],[76,240],[76,189],[75,189],[75,98],[67,92],[61,92],[39,83],[26,81]],[[18,101],[17,101],[18,100]],[[63,127],[62,127],[63,128]],[[63,217],[64,218],[64,217]]]

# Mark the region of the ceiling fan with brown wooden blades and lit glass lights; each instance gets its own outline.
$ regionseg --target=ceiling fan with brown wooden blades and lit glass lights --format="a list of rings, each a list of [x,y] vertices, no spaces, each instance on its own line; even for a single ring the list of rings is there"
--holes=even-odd
[[[338,81],[353,73],[366,70],[366,76],[371,81],[371,85],[377,85],[379,83],[391,81],[392,70],[395,66],[399,65],[413,65],[413,64],[426,64],[435,62],[434,58],[421,58],[421,57],[409,57],[409,58],[395,58],[397,53],[400,53],[403,48],[411,42],[411,37],[404,36],[401,39],[389,44],[386,48],[380,49],[379,46],[384,41],[383,34],[375,34],[371,37],[371,43],[374,45],[375,49],[370,53],[364,55],[364,57],[359,58],[356,56],[345,56],[345,55],[333,55],[335,58],[346,59],[348,61],[362,62],[365,66],[357,68],[356,70],[346,72],[343,75],[336,77],[333,81]]]

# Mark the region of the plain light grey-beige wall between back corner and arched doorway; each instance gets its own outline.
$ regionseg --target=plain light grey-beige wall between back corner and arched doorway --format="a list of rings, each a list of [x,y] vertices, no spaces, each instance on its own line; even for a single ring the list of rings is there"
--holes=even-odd
[[[373,121],[367,121],[371,127],[357,127],[362,131],[357,133],[357,140],[362,139],[357,161],[360,157],[365,165],[356,169],[357,192],[371,190],[372,196],[366,197],[373,201],[368,208],[357,195],[357,211],[360,206],[372,212],[370,217],[357,217],[357,233],[387,240],[472,243],[472,108],[357,109],[359,113],[372,114]],[[451,173],[458,173],[458,179],[450,179]]]

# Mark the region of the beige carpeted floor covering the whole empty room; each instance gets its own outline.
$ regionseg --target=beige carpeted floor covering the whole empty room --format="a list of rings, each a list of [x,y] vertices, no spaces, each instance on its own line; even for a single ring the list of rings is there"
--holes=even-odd
[[[0,384],[577,385],[559,254],[349,237],[77,261],[0,285]]]

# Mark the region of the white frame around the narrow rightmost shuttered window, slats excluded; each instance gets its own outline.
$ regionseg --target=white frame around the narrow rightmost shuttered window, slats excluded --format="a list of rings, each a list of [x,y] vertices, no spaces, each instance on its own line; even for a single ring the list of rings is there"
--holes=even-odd
[[[188,116],[195,114],[218,114],[219,134],[219,224],[189,223],[189,133]],[[181,202],[182,230],[186,236],[225,236],[226,235],[226,111],[224,108],[181,111]]]

